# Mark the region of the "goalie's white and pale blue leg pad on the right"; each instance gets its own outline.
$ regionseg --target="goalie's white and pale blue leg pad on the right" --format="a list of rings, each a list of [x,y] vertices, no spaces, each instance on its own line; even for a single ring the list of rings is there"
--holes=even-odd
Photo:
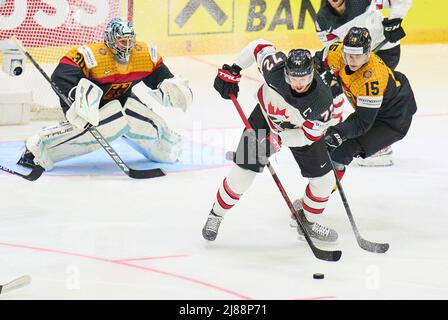
[[[170,130],[162,117],[132,98],[126,101],[125,113],[130,127],[125,137],[131,147],[152,161],[179,160],[182,137]]]

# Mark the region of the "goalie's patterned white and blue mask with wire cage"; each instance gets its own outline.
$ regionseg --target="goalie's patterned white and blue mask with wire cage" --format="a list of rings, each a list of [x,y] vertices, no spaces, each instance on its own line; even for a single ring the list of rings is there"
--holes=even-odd
[[[127,20],[114,18],[104,31],[104,42],[120,63],[128,63],[135,46],[134,26]]]

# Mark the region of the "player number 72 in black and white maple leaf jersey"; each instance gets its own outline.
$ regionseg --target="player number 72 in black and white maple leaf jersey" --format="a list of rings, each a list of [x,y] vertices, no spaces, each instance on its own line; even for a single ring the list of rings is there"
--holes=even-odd
[[[324,211],[335,179],[326,146],[325,129],[339,122],[341,110],[334,110],[329,86],[314,72],[311,53],[291,50],[286,56],[264,40],[247,45],[234,64],[218,71],[214,87],[224,99],[237,96],[240,71],[258,65],[265,83],[258,90],[258,104],[235,152],[235,165],[223,180],[202,234],[215,240],[224,215],[249,189],[262,172],[270,155],[281,145],[289,147],[302,176],[309,179],[303,197],[294,202],[298,216],[314,239],[335,242],[337,233],[316,220]],[[303,234],[297,228],[299,235]]]

